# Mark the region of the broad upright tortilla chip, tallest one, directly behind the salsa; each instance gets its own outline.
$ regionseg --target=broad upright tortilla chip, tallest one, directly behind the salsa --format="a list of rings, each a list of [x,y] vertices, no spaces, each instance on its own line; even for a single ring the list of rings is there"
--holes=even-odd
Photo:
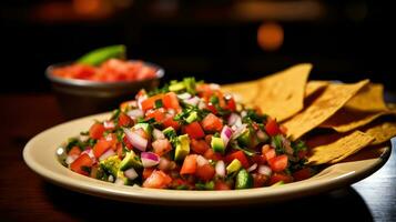
[[[311,69],[312,64],[297,64],[261,79],[255,105],[278,121],[296,114],[304,108],[305,85]]]

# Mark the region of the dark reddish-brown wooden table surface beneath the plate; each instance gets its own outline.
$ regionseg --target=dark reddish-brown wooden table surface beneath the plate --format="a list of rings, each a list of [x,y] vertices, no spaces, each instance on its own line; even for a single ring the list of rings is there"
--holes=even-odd
[[[142,218],[265,221],[270,216],[298,221],[396,221],[395,150],[380,170],[352,186],[288,202],[232,208],[133,204],[53,185],[24,164],[22,150],[28,140],[64,121],[52,95],[6,94],[0,95],[0,221],[133,221]]]

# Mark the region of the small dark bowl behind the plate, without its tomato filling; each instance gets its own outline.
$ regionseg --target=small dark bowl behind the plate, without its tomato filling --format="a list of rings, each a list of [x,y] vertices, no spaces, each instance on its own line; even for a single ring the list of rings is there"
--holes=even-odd
[[[111,111],[122,101],[134,99],[140,89],[152,90],[160,83],[165,71],[161,67],[144,62],[155,68],[156,78],[140,81],[97,82],[90,80],[65,79],[52,74],[52,70],[70,63],[53,64],[47,68],[45,75],[51,81],[60,108],[67,119]]]

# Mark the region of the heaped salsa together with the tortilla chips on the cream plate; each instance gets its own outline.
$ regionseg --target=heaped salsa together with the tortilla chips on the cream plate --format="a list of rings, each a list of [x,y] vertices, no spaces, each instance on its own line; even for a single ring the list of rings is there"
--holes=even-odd
[[[118,184],[233,190],[309,179],[359,160],[355,153],[378,157],[396,135],[383,87],[307,81],[311,69],[298,64],[223,87],[185,78],[141,90],[71,139],[63,162]]]

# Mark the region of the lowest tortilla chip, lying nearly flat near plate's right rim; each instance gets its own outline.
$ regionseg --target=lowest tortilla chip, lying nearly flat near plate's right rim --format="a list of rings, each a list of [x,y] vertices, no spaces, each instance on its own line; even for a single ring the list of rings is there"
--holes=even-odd
[[[318,165],[339,162],[370,144],[372,141],[374,141],[373,137],[355,131],[335,142],[313,148],[307,163]]]

